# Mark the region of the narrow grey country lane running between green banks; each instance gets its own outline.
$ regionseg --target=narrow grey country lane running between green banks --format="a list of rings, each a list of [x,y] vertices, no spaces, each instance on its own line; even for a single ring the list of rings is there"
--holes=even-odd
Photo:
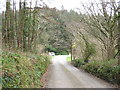
[[[73,67],[66,62],[66,57],[53,58],[47,88],[113,88],[105,81]]]

